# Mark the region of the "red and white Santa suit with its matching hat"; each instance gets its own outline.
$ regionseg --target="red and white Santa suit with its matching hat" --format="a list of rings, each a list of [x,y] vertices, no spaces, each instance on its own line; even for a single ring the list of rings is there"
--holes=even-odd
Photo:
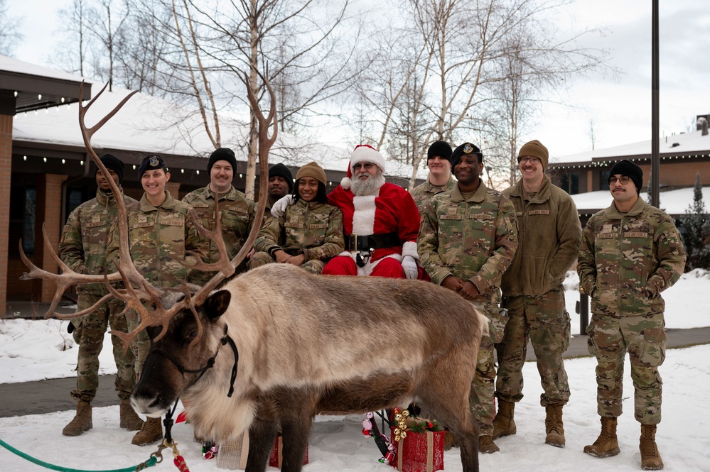
[[[384,182],[375,194],[353,194],[350,190],[350,176],[353,165],[361,162],[374,163],[384,169],[382,154],[370,146],[357,146],[351,155],[348,177],[328,194],[328,204],[343,212],[343,234],[346,239],[351,234],[369,236],[396,233],[400,244],[375,248],[369,258],[364,258],[365,265],[362,267],[356,264],[357,251],[346,251],[330,260],[323,274],[404,278],[402,258],[412,256],[414,260],[419,260],[416,253],[419,210],[407,190],[389,182]]]

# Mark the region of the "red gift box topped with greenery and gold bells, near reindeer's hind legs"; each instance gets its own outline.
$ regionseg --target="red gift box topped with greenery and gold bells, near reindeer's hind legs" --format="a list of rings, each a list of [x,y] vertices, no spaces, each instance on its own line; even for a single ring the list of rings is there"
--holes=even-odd
[[[407,431],[407,437],[395,442],[392,427],[391,440],[397,449],[390,465],[402,472],[443,471],[443,436],[443,431]]]

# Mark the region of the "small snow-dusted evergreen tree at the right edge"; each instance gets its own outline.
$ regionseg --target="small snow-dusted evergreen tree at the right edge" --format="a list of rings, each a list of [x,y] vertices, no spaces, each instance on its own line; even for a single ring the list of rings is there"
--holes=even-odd
[[[680,218],[681,233],[688,260],[686,272],[696,268],[710,269],[710,215],[703,201],[703,186],[700,172],[695,176],[693,203],[688,205]]]

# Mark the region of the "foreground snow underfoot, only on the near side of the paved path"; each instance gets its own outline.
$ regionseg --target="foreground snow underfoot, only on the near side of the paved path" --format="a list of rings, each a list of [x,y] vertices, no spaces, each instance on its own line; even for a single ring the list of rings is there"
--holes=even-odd
[[[663,421],[657,444],[669,472],[710,471],[710,404],[699,396],[710,385],[710,345],[669,349],[661,374],[664,380]],[[539,376],[534,363],[524,368],[525,397],[517,405],[517,434],[498,439],[500,453],[480,456],[481,471],[495,472],[630,472],[640,470],[638,437],[640,427],[633,417],[633,385],[624,378],[624,414],[619,419],[621,453],[597,459],[582,452],[596,439],[600,424],[596,414],[595,361],[579,358],[566,362],[571,399],[564,409],[567,444],[558,449],[544,444],[544,409],[539,406]],[[178,407],[178,411],[180,407]],[[37,459],[60,466],[107,470],[134,466],[149,459],[155,446],[131,446],[131,433],[118,427],[118,407],[95,408],[94,429],[80,437],[60,433],[73,412],[0,418],[0,439]],[[379,451],[372,439],[362,436],[364,416],[316,417],[309,441],[311,463],[303,472],[388,472],[394,469],[379,463]],[[220,471],[215,459],[206,461],[200,445],[192,440],[189,424],[177,424],[173,438],[190,471]],[[175,471],[170,451],[166,462],[149,470]],[[3,471],[35,472],[44,468],[28,463],[0,448]],[[458,449],[444,454],[446,471],[461,471]],[[275,468],[269,468],[275,471]]]

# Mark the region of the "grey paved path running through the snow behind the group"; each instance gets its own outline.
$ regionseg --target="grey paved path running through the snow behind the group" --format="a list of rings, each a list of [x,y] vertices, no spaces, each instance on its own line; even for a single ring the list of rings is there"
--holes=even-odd
[[[47,306],[29,306],[28,304],[26,308],[31,309],[31,313],[34,314],[33,317],[37,318],[43,316]],[[682,348],[710,343],[710,327],[667,329],[667,334],[669,348]],[[575,334],[564,357],[576,358],[583,356],[589,356],[587,336]],[[534,360],[532,346],[528,346],[527,357],[528,361]],[[115,378],[115,375],[99,376],[99,388],[93,405],[106,407],[119,404],[119,399],[114,390]],[[70,392],[74,388],[76,388],[76,378],[0,384],[0,417],[42,415],[50,412],[74,410],[75,403],[70,396]]]

